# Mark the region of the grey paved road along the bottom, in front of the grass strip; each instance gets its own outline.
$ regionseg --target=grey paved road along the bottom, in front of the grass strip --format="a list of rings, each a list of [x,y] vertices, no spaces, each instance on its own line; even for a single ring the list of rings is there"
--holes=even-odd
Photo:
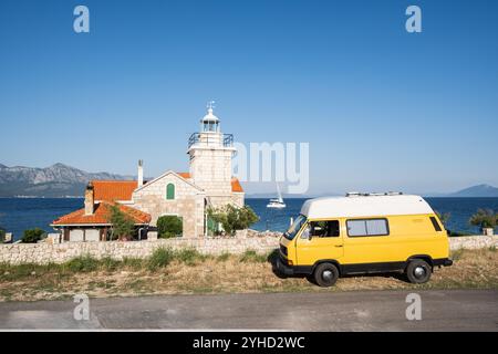
[[[406,320],[406,291],[172,295],[0,303],[0,329],[498,331],[498,291],[419,291],[422,320]]]

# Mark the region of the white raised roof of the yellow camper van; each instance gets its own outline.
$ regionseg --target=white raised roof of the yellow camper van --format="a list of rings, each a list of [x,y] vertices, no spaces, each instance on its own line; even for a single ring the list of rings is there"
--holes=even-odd
[[[311,219],[434,214],[424,198],[411,195],[322,197],[304,202],[301,214]]]

